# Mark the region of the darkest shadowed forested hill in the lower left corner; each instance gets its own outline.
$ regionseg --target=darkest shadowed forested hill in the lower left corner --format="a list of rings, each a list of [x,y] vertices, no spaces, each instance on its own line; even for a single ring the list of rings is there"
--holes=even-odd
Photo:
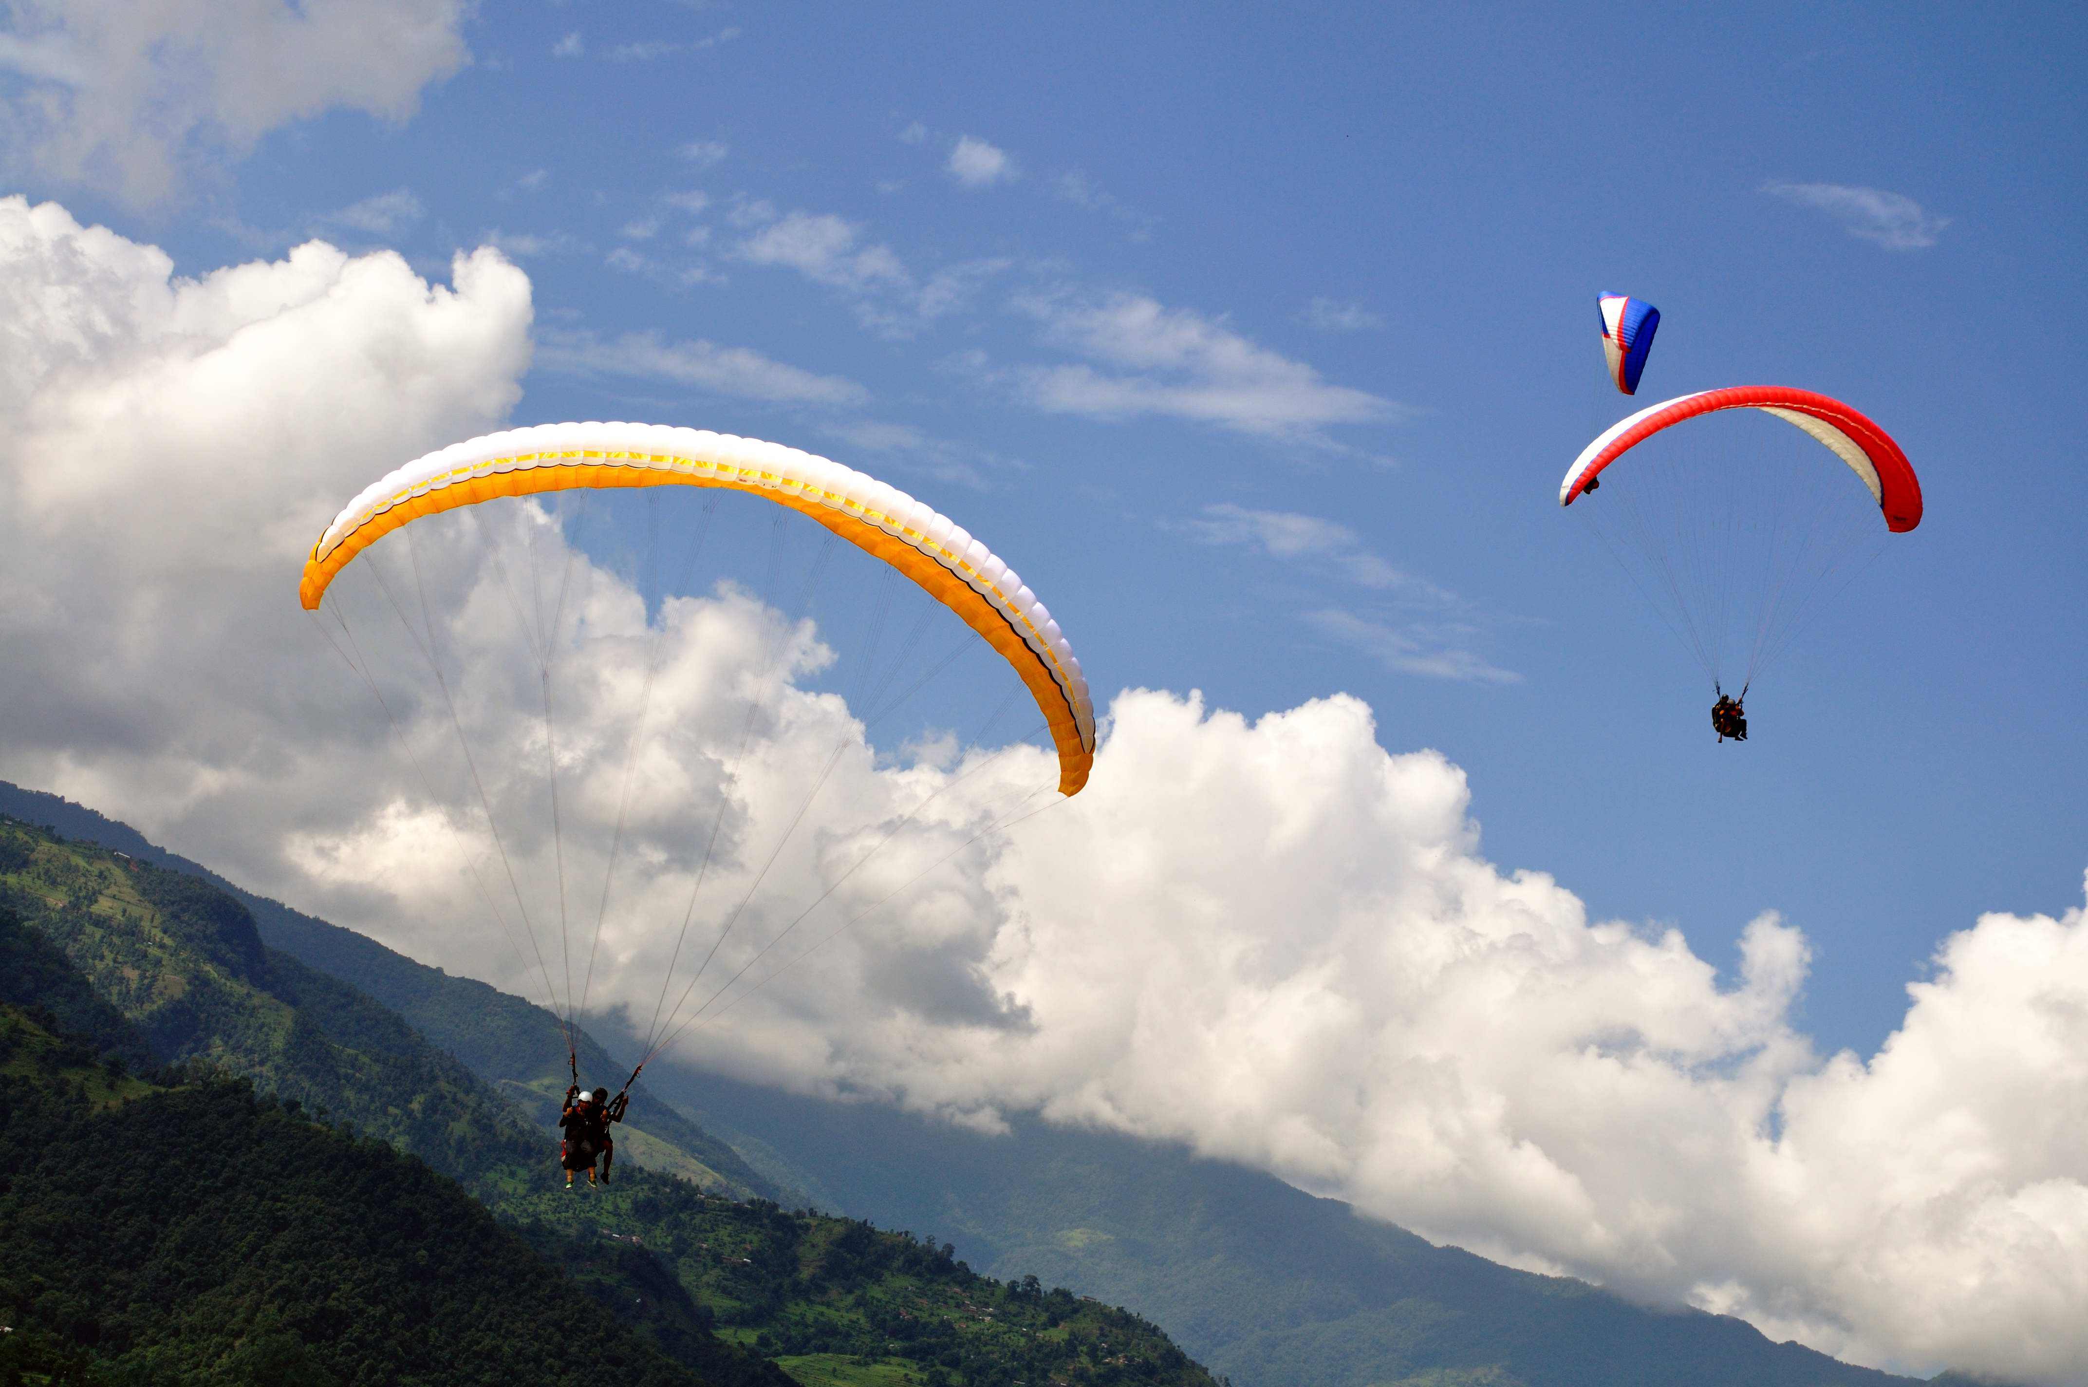
[[[0,913],[10,961],[23,934]],[[0,1381],[762,1381],[672,1362],[388,1143],[205,1065],[125,1074],[96,1059],[121,1024],[50,1017],[0,1003]]]

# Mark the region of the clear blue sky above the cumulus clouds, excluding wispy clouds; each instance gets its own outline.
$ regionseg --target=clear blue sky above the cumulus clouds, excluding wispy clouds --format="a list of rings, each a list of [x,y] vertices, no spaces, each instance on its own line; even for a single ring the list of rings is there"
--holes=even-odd
[[[883,470],[998,537],[1105,689],[1201,687],[1249,714],[1359,694],[1384,746],[1470,771],[1501,865],[1681,923],[1710,957],[1760,909],[1800,923],[1823,1042],[1883,1038],[1979,911],[2078,894],[2075,15],[658,4],[518,6],[466,36],[474,63],[403,123],[278,130],[173,213],[73,205],[184,272],[326,234],[443,274],[491,236],[545,330],[854,382],[754,401],[553,361],[516,420],[689,422]],[[1013,171],[967,186],[960,138]],[[1894,194],[1911,224],[1773,184]],[[908,286],[748,261],[750,203],[844,219]],[[867,322],[940,272],[967,280],[958,307]],[[1921,531],[1773,671],[1739,754],[1706,735],[1687,654],[1551,501],[1589,434],[1597,288],[1666,313],[1645,397],[1819,389],[1885,424],[1927,489]],[[1284,437],[996,384],[1077,359],[1023,299],[1111,295],[1378,403]],[[923,445],[852,449],[871,424]],[[1332,520],[1353,549],[1199,543],[1205,506]],[[1345,556],[1455,593],[1472,631],[1453,643],[1520,679],[1386,668],[1311,625],[1434,622]]]

